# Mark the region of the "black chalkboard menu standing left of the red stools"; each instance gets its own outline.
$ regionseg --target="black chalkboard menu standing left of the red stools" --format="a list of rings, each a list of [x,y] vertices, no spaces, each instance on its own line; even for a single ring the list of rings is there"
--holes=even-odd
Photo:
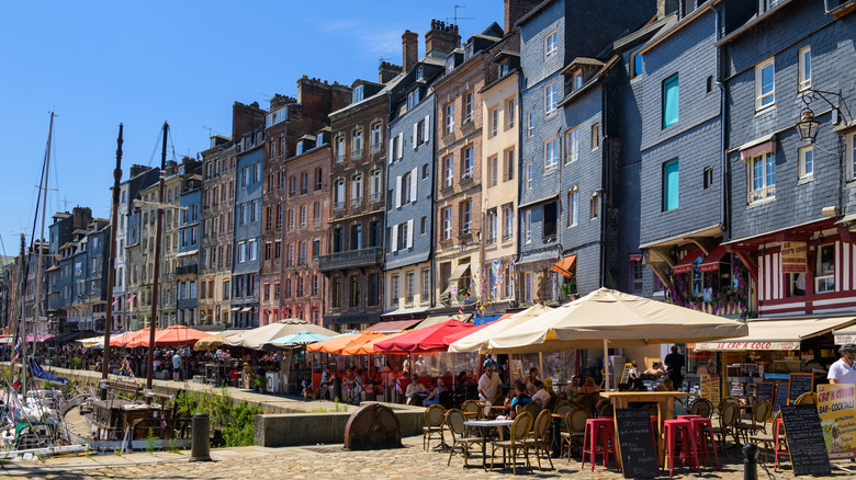
[[[624,478],[654,478],[660,471],[654,450],[654,431],[651,411],[646,409],[616,409],[618,449]]]

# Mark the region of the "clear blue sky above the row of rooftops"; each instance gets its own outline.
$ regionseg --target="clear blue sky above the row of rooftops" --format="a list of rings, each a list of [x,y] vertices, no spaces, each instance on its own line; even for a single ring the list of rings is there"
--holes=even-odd
[[[119,124],[123,180],[132,163],[158,165],[168,121],[178,159],[229,135],[232,103],[295,95],[303,75],[350,84],[399,65],[401,35],[458,10],[461,36],[503,24],[503,0],[23,1],[0,28],[0,237],[15,254],[33,228],[49,112],[54,148],[49,216],[76,205],[109,218]],[[171,153],[170,157],[171,158]],[[67,203],[66,203],[67,202]],[[36,227],[38,236],[38,226]],[[45,232],[47,236],[47,232]],[[2,250],[0,250],[2,254]]]

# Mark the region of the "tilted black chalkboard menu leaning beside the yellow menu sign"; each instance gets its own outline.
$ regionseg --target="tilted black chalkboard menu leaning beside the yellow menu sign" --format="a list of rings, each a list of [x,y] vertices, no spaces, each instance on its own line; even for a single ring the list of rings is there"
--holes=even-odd
[[[788,438],[793,475],[831,475],[830,457],[818,415],[818,405],[786,405],[781,420]]]

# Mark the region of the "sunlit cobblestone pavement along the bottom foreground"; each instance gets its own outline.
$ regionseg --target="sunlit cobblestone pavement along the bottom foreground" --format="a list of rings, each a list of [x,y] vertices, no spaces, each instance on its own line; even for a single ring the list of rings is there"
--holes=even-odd
[[[13,479],[206,479],[206,480],[259,480],[259,479],[308,479],[342,478],[360,479],[401,479],[401,478],[455,478],[455,479],[509,479],[511,471],[495,470],[486,472],[481,468],[481,458],[475,454],[470,466],[463,467],[463,458],[455,454],[451,466],[447,467],[448,454],[423,450],[421,437],[404,439],[404,448],[374,452],[346,452],[341,445],[318,445],[302,447],[240,447],[212,450],[213,462],[189,462],[188,453],[169,454],[138,453],[126,456],[95,456],[56,458],[44,461],[23,461],[2,466],[3,476]],[[620,472],[605,470],[598,466],[592,472],[581,470],[576,460],[554,459],[555,469],[542,461],[545,470],[537,468],[530,473],[518,468],[518,475],[534,478],[573,477],[579,479],[620,479]],[[856,464],[851,464],[856,467]],[[497,467],[498,468],[498,467]],[[786,467],[789,468],[789,467]],[[773,466],[769,466],[773,473]],[[675,478],[703,479],[743,479],[742,455],[732,454],[722,471],[702,469],[701,476],[688,469],[676,470]],[[841,470],[832,477],[852,478],[854,475]],[[788,469],[767,476],[758,468],[759,479],[795,478]]]

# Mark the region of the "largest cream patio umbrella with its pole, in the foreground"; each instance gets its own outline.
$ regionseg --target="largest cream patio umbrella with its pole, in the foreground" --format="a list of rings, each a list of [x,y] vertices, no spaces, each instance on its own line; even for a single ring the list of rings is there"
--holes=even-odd
[[[492,336],[487,352],[554,352],[661,343],[701,342],[745,336],[746,324],[663,301],[600,288]]]

